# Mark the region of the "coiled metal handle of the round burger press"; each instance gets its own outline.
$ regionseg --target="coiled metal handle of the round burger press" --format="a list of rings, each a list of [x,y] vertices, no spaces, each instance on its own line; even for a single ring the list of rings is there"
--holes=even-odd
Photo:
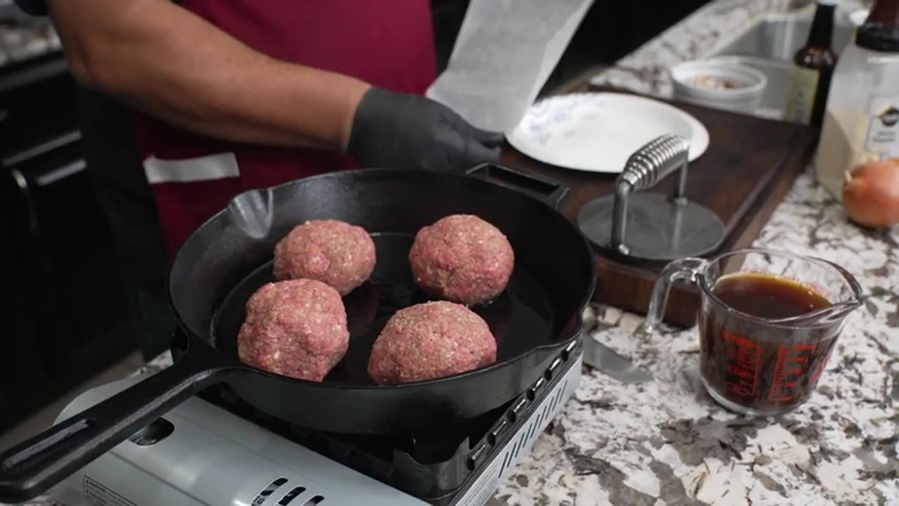
[[[679,135],[666,133],[650,140],[628,158],[628,163],[615,181],[615,203],[612,208],[611,247],[622,255],[628,255],[625,229],[628,222],[628,196],[634,192],[652,188],[666,176],[678,171],[672,202],[687,203],[687,164],[690,160],[690,142]]]

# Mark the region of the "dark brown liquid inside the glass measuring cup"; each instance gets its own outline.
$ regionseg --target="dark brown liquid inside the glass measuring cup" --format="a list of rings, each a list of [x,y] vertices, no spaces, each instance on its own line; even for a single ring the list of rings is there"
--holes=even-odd
[[[718,279],[712,290],[727,307],[764,319],[798,316],[830,305],[814,289],[767,274]],[[756,411],[805,402],[830,356],[840,325],[790,328],[752,321],[714,301],[699,313],[700,367],[725,399]]]

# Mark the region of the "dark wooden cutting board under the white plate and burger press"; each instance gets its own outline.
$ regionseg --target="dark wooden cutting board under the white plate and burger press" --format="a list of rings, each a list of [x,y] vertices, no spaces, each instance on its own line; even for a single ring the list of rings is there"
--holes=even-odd
[[[579,91],[628,93],[587,87]],[[726,237],[717,253],[750,247],[811,159],[816,137],[814,130],[696,105],[669,104],[693,114],[708,129],[708,149],[690,163],[687,197],[708,207],[724,222]],[[510,146],[503,149],[501,162],[569,186],[570,191],[560,207],[573,220],[584,203],[611,194],[617,176],[550,166]],[[671,190],[672,181],[666,180],[645,191],[669,194]],[[598,283],[594,299],[645,314],[655,279],[664,264],[622,263],[604,257],[600,248],[595,250]],[[708,257],[714,256],[715,253]],[[695,287],[674,285],[665,320],[693,325],[698,307],[699,293]]]

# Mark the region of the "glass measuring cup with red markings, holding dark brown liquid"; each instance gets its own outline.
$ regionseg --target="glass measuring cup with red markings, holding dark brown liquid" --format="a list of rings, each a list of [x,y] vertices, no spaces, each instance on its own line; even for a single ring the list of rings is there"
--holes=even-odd
[[[846,316],[861,305],[858,281],[820,258],[739,249],[681,258],[655,282],[643,330],[662,321],[673,282],[699,286],[699,370],[708,393],[748,415],[790,411],[814,392]]]

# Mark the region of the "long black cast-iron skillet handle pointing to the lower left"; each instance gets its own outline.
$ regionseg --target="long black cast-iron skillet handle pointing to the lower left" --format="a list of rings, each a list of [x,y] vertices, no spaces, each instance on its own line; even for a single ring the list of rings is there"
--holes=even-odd
[[[0,502],[47,492],[210,384],[239,369],[196,339],[173,366],[0,454]]]

